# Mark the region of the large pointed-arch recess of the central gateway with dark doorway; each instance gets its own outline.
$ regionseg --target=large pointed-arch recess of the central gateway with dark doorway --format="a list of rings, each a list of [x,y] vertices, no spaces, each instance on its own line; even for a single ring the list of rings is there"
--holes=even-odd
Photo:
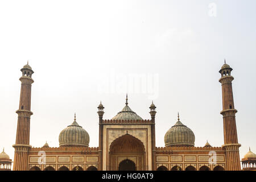
[[[132,135],[123,135],[110,144],[110,170],[145,170],[145,160],[145,147],[143,143]]]

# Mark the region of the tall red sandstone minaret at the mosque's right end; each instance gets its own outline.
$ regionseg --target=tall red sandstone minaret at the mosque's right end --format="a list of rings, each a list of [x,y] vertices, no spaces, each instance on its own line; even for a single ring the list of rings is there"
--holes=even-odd
[[[226,154],[226,169],[229,171],[241,170],[239,147],[237,139],[236,113],[234,109],[234,99],[232,90],[232,81],[234,77],[231,76],[232,68],[228,64],[222,65],[221,86],[222,86],[222,111],[223,127],[224,127],[224,145],[222,147]]]

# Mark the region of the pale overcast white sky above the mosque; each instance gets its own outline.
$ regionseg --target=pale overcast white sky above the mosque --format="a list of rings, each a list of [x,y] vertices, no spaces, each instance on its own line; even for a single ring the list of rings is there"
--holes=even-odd
[[[216,14],[209,14],[209,4]],[[59,146],[77,122],[98,146],[97,106],[111,119],[129,106],[150,119],[156,146],[177,121],[195,146],[224,143],[220,70],[233,68],[241,156],[256,153],[255,1],[0,1],[0,147],[14,158],[20,69],[32,75],[30,144]],[[212,15],[212,16],[210,16]],[[214,16],[216,15],[216,16]],[[133,81],[132,78],[135,80]],[[138,82],[136,82],[138,81]],[[140,82],[141,81],[141,82]]]

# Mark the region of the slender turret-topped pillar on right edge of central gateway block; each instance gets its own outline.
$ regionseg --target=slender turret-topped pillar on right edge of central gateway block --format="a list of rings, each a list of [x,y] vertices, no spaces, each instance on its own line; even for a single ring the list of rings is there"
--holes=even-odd
[[[152,146],[152,171],[155,170],[155,111],[156,106],[154,105],[153,101],[150,105],[150,115],[151,115],[151,146]]]

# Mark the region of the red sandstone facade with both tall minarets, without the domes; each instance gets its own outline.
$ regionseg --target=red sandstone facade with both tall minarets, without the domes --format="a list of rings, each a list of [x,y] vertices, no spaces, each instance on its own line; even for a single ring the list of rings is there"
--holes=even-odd
[[[20,104],[14,170],[241,170],[236,130],[232,68],[224,64],[220,70],[224,124],[222,147],[155,147],[156,107],[150,106],[151,119],[103,119],[104,106],[98,106],[98,147],[30,146],[31,78],[29,65],[22,69]],[[126,109],[127,107],[126,97]],[[125,109],[124,108],[124,109]],[[134,114],[133,111],[121,111]],[[135,115],[135,114],[134,114]],[[42,155],[42,151],[45,155]],[[214,158],[212,158],[212,153]],[[214,159],[214,163],[212,163]],[[40,163],[40,161],[42,163]],[[130,166],[125,166],[124,162]],[[133,168],[134,167],[134,168]]]

